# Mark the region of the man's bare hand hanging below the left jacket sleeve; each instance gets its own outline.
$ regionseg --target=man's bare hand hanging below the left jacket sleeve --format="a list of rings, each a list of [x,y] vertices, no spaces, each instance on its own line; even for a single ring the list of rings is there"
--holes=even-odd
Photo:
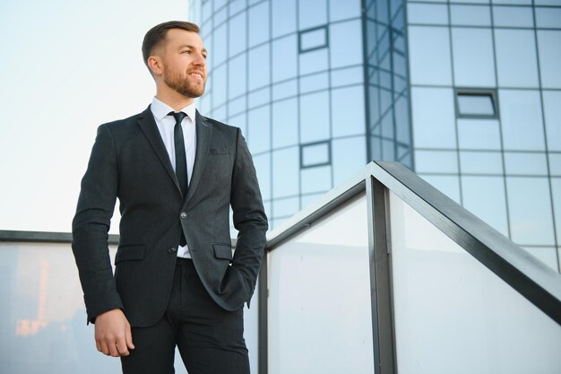
[[[131,325],[121,309],[111,309],[96,317],[95,340],[99,352],[113,357],[128,356],[134,349]]]

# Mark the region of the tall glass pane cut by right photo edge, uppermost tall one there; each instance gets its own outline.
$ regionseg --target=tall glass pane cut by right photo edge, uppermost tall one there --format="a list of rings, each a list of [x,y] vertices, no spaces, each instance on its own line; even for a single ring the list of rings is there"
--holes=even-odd
[[[539,73],[543,88],[561,89],[561,30],[539,30]],[[546,93],[544,91],[544,93]]]

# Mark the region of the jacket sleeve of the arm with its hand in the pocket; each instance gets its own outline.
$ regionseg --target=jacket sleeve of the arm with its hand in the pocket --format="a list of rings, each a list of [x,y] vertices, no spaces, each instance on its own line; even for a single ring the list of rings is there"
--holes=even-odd
[[[238,230],[231,270],[241,276],[247,291],[246,302],[249,304],[263,260],[268,224],[254,162],[239,129],[230,202],[234,227]]]

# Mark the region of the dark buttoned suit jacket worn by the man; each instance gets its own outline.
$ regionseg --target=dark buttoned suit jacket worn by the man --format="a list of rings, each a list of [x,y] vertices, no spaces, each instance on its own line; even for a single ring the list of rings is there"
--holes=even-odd
[[[255,168],[239,128],[195,118],[196,153],[181,196],[150,107],[101,125],[73,219],[73,253],[88,320],[125,311],[132,326],[151,326],[168,304],[184,231],[203,285],[220,307],[249,302],[263,258],[267,218]],[[116,199],[121,212],[115,276],[108,229]],[[229,205],[239,231],[230,247]]]

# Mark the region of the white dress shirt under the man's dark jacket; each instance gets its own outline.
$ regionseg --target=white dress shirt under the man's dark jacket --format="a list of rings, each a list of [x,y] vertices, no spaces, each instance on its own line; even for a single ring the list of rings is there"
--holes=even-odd
[[[176,119],[173,116],[168,116],[169,112],[175,111],[171,109],[167,104],[158,100],[154,97],[151,104],[151,112],[154,115],[154,120],[160,130],[161,140],[163,140],[166,150],[168,151],[169,161],[173,169],[176,170],[176,145],[174,142],[174,127],[176,126]],[[194,116],[195,107],[194,103],[181,109],[186,114],[181,122],[181,128],[183,130],[183,139],[185,142],[186,151],[186,161],[187,161],[187,186],[191,181],[191,175],[193,174],[194,165],[194,154],[196,150],[196,128],[194,126]],[[179,246],[177,248],[177,257],[191,258],[189,253],[189,248],[187,245],[185,247]]]

